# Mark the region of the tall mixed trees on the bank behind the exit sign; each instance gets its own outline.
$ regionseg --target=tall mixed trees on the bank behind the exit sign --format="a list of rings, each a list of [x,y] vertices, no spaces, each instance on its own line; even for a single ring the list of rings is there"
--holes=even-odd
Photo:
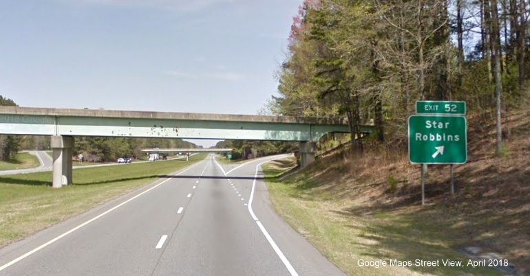
[[[406,146],[416,100],[463,100],[496,121],[527,102],[527,0],[305,0],[277,72],[275,115],[342,116],[363,140]],[[362,124],[378,131],[363,137]],[[391,136],[388,134],[392,134]]]

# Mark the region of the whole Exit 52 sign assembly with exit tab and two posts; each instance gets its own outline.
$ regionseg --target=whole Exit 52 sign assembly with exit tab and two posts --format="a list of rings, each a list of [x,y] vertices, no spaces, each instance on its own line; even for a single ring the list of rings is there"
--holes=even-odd
[[[409,117],[409,160],[421,164],[421,205],[425,204],[424,164],[449,164],[454,194],[453,165],[467,161],[465,102],[418,101]]]

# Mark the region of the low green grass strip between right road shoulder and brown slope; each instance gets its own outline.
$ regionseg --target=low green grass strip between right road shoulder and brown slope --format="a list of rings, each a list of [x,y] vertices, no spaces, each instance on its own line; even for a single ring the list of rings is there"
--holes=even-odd
[[[469,257],[454,249],[458,235],[453,235],[458,229],[453,228],[453,213],[434,207],[418,207],[410,212],[374,209],[352,196],[337,194],[326,183],[332,177],[321,173],[318,164],[312,170],[282,177],[294,162],[284,159],[263,166],[273,206],[293,229],[346,274],[500,275],[493,269],[468,267]],[[333,174],[337,176],[336,172]],[[356,192],[362,191],[349,191]],[[373,263],[360,266],[360,260]],[[390,266],[390,260],[410,261],[412,266]],[[438,260],[438,266],[416,266],[416,260]],[[463,263],[445,266],[443,260]],[[381,261],[387,266],[377,268],[375,265]]]

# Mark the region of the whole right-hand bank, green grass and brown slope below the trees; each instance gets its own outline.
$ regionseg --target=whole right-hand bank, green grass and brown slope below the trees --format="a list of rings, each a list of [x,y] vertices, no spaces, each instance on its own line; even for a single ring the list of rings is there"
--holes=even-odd
[[[265,165],[277,212],[349,275],[498,275],[493,268],[466,266],[478,255],[498,254],[530,273],[530,111],[504,118],[511,136],[494,157],[494,122],[469,118],[468,161],[432,165],[426,205],[421,206],[418,165],[405,150],[367,148],[365,156],[332,154],[282,177],[291,161]],[[480,126],[480,127],[475,127]],[[462,267],[442,260],[463,261]],[[408,268],[359,266],[359,260],[411,261]],[[414,266],[439,260],[439,266]]]

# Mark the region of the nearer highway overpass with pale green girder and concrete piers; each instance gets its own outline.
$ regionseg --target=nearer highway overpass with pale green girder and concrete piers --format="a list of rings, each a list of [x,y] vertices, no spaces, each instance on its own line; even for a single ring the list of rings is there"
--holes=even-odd
[[[72,183],[74,136],[300,141],[305,166],[320,137],[349,132],[345,120],[332,118],[0,106],[0,134],[52,136],[53,187]]]

